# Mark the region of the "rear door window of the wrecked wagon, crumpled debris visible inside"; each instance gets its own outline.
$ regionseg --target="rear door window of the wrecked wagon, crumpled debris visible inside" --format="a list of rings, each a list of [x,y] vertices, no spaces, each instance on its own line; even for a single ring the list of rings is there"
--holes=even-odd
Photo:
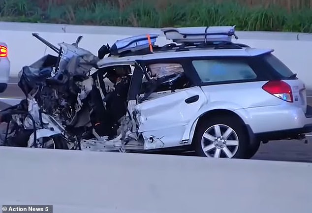
[[[180,63],[153,63],[146,66],[146,71],[152,81],[144,77],[142,92],[175,91],[190,85]]]

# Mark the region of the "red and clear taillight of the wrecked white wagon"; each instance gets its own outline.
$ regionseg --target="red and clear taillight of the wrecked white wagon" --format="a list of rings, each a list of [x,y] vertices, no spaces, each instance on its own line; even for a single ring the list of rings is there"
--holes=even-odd
[[[284,101],[293,102],[291,87],[284,81],[269,81],[262,89]]]

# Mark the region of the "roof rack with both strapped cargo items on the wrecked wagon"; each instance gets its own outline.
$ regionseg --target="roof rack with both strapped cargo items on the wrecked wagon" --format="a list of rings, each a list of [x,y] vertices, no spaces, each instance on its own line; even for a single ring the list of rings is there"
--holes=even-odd
[[[113,44],[109,49],[110,56],[138,56],[168,50],[188,51],[194,48],[242,49],[249,47],[246,44],[232,42],[232,36],[238,39],[235,35],[235,26],[163,28],[161,31],[166,39],[172,40],[173,43],[160,47],[155,45],[158,34],[126,37]]]

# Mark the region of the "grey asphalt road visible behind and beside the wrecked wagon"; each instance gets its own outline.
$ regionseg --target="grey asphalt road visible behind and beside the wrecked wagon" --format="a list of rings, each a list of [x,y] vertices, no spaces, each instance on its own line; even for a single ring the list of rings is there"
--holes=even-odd
[[[22,91],[16,85],[17,79],[11,79],[10,82],[11,84],[8,85],[7,90],[1,93],[0,97],[23,98]],[[308,104],[312,105],[312,91],[308,91]],[[0,102],[0,110],[7,106],[7,104]],[[186,155],[193,155],[193,153],[189,152]],[[307,135],[307,142],[282,140],[261,144],[253,159],[312,162],[312,133],[311,136]]]

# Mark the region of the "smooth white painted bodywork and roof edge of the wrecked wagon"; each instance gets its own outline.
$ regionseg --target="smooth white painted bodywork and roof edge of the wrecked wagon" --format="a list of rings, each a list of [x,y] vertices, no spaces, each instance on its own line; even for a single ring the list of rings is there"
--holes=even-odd
[[[177,52],[175,54],[170,52],[155,53],[149,56],[125,57],[123,59],[110,57],[103,59],[101,63],[114,66],[126,64],[124,61],[133,61],[134,64],[135,61],[168,60],[185,57],[189,59],[192,59],[192,57],[256,57],[271,54],[272,52],[272,49],[254,48],[221,51],[193,50],[192,52]],[[176,135],[173,141],[191,139],[189,137],[191,127],[196,124],[198,117],[216,109],[236,113],[246,125],[250,125],[252,132],[255,134],[303,128],[305,125],[311,125],[312,118],[306,118],[305,116],[307,113],[307,95],[303,81],[300,79],[283,81],[291,86],[293,96],[298,97],[298,100],[292,103],[285,102],[262,89],[262,86],[268,81],[256,81],[198,86],[174,93],[170,91],[156,92],[154,93],[156,98],[137,104],[135,108],[142,113],[141,119],[143,121],[150,121],[141,126],[142,131],[150,131],[150,129],[159,127],[164,129],[166,135],[168,133]],[[189,105],[184,104],[183,100],[195,94],[199,94],[199,101],[189,108]],[[178,103],[182,105],[179,106]],[[190,112],[192,114],[189,114]],[[176,130],[179,129],[179,132],[183,134],[176,134],[177,131],[170,130],[170,126]],[[179,140],[176,138],[177,135],[179,135]],[[171,147],[172,145],[166,143],[166,146]]]

